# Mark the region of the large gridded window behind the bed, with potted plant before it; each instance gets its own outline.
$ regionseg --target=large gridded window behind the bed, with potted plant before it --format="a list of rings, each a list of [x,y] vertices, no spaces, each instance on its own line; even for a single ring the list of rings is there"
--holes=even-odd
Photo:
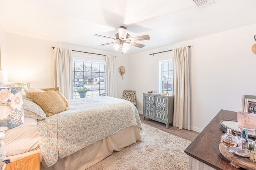
[[[100,80],[100,81],[98,81]],[[106,63],[73,60],[73,97],[105,96]],[[84,93],[78,93],[85,89]]]

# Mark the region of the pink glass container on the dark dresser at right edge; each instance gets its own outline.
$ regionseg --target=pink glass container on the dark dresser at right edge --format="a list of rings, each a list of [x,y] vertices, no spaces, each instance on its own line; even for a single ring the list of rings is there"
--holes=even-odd
[[[247,112],[237,112],[237,123],[239,128],[248,128],[249,131],[254,131],[256,128],[256,115]]]

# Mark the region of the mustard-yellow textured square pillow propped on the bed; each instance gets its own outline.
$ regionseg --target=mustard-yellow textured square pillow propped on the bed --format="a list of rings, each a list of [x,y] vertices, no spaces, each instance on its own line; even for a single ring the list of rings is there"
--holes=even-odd
[[[30,92],[29,94],[32,97],[31,99],[43,109],[46,116],[68,110],[60,95],[54,90]]]

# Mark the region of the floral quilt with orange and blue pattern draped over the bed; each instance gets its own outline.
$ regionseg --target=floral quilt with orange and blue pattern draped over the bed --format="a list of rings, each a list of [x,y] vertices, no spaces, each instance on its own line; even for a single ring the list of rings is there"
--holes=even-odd
[[[86,97],[68,100],[68,104],[67,111],[38,120],[44,168],[122,128],[141,129],[138,111],[130,101]]]

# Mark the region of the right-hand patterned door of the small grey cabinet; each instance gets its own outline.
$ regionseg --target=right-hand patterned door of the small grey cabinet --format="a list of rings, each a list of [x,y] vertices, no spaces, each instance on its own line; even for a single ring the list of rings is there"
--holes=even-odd
[[[168,99],[166,97],[155,97],[155,115],[157,119],[166,120]]]

